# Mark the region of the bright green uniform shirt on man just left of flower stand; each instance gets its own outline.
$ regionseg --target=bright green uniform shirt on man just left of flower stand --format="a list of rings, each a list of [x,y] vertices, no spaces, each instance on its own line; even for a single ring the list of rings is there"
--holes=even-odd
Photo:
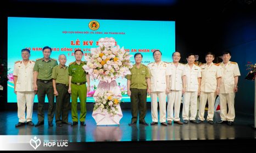
[[[71,82],[73,83],[82,83],[86,81],[86,74],[85,70],[82,66],[86,65],[86,62],[82,62],[77,64],[76,62],[72,62],[69,64],[69,76],[72,77]]]

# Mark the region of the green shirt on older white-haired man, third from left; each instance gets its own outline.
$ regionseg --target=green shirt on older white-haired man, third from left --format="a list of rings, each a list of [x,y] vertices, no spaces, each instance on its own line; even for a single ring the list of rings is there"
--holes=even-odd
[[[69,84],[69,69],[67,66],[62,67],[60,64],[52,69],[52,78],[59,84]]]

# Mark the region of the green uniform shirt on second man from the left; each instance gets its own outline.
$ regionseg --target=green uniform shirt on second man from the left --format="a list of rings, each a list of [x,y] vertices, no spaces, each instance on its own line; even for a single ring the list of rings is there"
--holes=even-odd
[[[57,60],[50,58],[49,61],[44,61],[44,58],[36,59],[34,71],[38,72],[37,79],[50,80],[52,79],[52,69],[57,66]]]

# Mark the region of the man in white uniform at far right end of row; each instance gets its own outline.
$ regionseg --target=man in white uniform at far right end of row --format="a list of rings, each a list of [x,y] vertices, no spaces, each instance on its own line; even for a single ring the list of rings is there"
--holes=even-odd
[[[230,62],[231,53],[225,51],[222,54],[223,62],[220,63],[221,81],[220,81],[220,119],[218,123],[227,123],[233,125],[235,119],[235,93],[238,91],[238,77],[240,70],[236,62]],[[227,112],[227,106],[229,111]]]

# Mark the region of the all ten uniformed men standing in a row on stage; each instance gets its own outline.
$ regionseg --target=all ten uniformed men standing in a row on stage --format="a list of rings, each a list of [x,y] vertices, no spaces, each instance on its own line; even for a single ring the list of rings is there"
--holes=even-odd
[[[57,60],[50,58],[52,49],[43,48],[43,58],[30,61],[30,50],[21,50],[22,61],[14,64],[14,92],[17,96],[18,118],[16,127],[29,125],[32,122],[34,97],[38,97],[38,122],[37,126],[44,124],[44,101],[48,98],[48,126],[53,126],[54,96],[56,97],[55,122],[57,126],[86,126],[86,97],[90,91],[90,77],[82,68],[86,62],[81,61],[83,52],[75,50],[75,62],[67,67],[66,56],[59,55]],[[217,95],[220,96],[220,117],[218,123],[233,125],[235,119],[235,93],[238,91],[238,77],[240,70],[238,64],[230,62],[231,53],[222,54],[223,62],[214,64],[214,54],[208,52],[205,55],[206,63],[201,67],[194,64],[195,55],[187,56],[187,64],[179,63],[180,52],[172,54],[171,63],[162,61],[162,52],[153,52],[154,62],[148,66],[142,64],[142,54],[134,55],[135,64],[130,69],[131,74],[126,75],[127,95],[131,97],[132,119],[129,125],[136,125],[139,115],[139,123],[148,125],[145,121],[147,111],[147,94],[151,96],[151,125],[172,125],[172,121],[179,125],[183,123],[201,123],[204,121],[205,104],[208,102],[207,121],[213,124],[214,102]],[[87,83],[87,86],[86,86]],[[68,110],[71,93],[71,116],[73,123],[68,122]],[[182,118],[180,121],[180,105],[183,95]],[[198,121],[197,97],[199,96]],[[77,97],[80,99],[80,119],[77,114]],[[166,115],[166,97],[168,102]],[[228,111],[227,111],[228,107]],[[25,110],[25,108],[27,108]],[[27,115],[25,116],[25,111]],[[189,116],[190,115],[190,116]],[[166,117],[167,116],[167,117]],[[166,122],[167,120],[167,122]]]

